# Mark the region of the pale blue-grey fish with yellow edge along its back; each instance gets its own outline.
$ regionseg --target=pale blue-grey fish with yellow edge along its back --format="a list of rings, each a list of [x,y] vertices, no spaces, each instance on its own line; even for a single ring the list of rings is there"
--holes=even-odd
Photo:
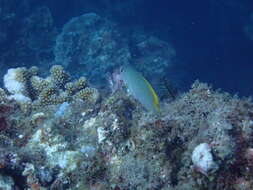
[[[158,95],[140,72],[131,65],[124,65],[120,68],[119,76],[128,93],[139,101],[146,110],[152,113],[160,112]]]

